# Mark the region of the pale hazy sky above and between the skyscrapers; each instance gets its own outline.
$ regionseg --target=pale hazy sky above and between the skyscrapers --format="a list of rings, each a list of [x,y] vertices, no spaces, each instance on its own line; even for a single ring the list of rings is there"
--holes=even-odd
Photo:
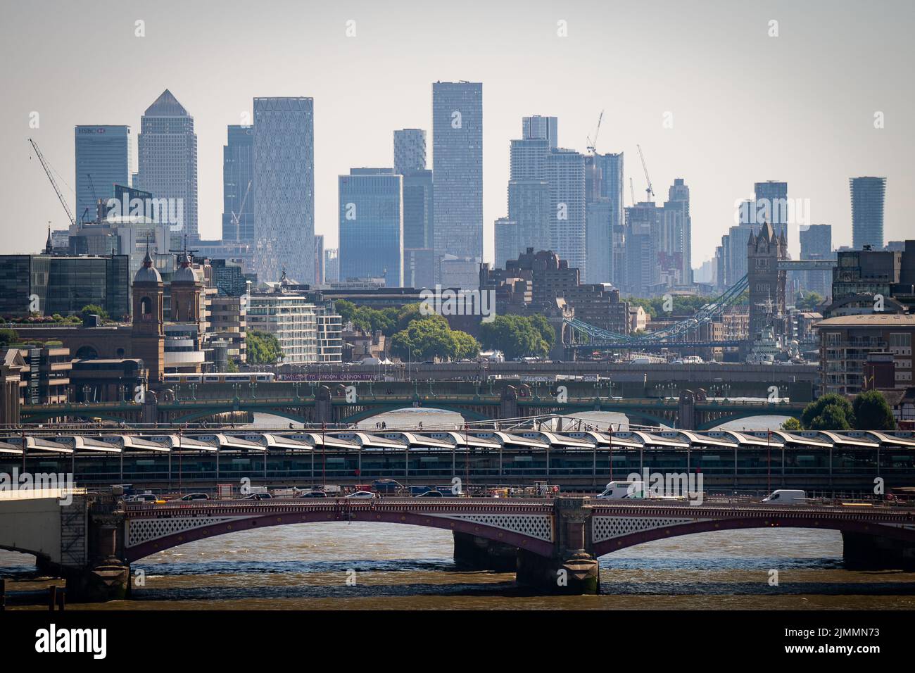
[[[694,266],[765,179],[809,200],[811,222],[832,224],[838,246],[851,244],[848,179],[885,176],[886,239],[915,233],[905,215],[915,212],[911,0],[4,0],[0,11],[6,253],[38,250],[48,220],[67,224],[27,137],[73,208],[73,126],[131,125],[135,168],[140,116],[166,88],[194,116],[205,238],[221,233],[226,125],[242,123],[254,96],[313,97],[316,232],[333,246],[337,176],[391,166],[393,129],[427,129],[431,168],[436,80],[483,82],[488,258],[492,223],[507,211],[509,141],[527,114],[558,116],[560,145],[584,152],[604,110],[597,150],[626,153],[626,205],[630,177],[644,195],[637,143],[658,201],[684,178]],[[885,128],[874,127],[877,111]]]

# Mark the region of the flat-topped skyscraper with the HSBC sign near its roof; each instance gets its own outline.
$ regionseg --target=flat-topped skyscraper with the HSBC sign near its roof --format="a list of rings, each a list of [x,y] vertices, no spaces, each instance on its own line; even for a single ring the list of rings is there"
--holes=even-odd
[[[76,215],[95,220],[96,202],[113,198],[115,184],[127,184],[130,126],[76,126]],[[88,211],[88,212],[87,212]]]

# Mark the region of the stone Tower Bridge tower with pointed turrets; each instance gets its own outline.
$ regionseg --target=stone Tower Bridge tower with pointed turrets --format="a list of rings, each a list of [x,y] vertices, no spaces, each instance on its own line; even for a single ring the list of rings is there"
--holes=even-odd
[[[759,234],[750,233],[747,242],[747,282],[749,287],[749,338],[756,339],[766,327],[784,335],[781,318],[785,315],[785,281],[787,272],[779,269],[779,260],[788,259],[788,242],[784,233],[776,235],[770,223]]]

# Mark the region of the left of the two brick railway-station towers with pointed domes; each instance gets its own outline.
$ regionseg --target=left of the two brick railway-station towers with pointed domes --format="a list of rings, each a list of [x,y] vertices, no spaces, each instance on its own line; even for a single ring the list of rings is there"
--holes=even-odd
[[[153,387],[165,374],[165,305],[162,277],[153,266],[148,245],[143,266],[134,277],[134,326],[131,333],[131,355],[141,358],[149,370],[148,385]]]

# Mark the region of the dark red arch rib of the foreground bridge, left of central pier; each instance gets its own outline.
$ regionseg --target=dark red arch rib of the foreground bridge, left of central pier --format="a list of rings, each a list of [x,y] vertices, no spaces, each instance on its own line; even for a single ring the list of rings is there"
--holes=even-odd
[[[215,518],[215,517],[214,517]],[[206,521],[206,519],[202,519]],[[172,519],[142,519],[130,517],[127,519],[125,526],[130,526],[131,522],[150,521],[163,522],[163,530],[167,530],[169,522]],[[223,518],[218,521],[211,521],[203,526],[191,528],[189,530],[166,533],[161,537],[140,542],[133,546],[124,547],[124,559],[128,563],[133,563],[139,559],[156,554],[166,549],[179,547],[190,542],[196,542],[201,539],[209,539],[222,535],[230,535],[245,530],[256,530],[269,526],[288,526],[295,524],[307,523],[326,523],[328,521],[339,521],[339,523],[365,522],[365,523],[388,523],[388,524],[405,524],[409,526],[425,526],[439,528],[443,530],[458,531],[467,533],[476,537],[501,542],[513,547],[527,549],[534,554],[549,558],[553,555],[554,544],[543,539],[524,535],[504,528],[489,526],[474,521],[462,521],[445,516],[436,516],[431,513],[410,513],[386,510],[373,510],[371,508],[361,509],[359,512],[346,513],[340,516],[339,511],[328,511],[323,509],[313,512],[302,513],[277,513],[277,514],[260,514],[256,516],[241,516],[231,519]],[[125,536],[129,542],[129,533]]]

